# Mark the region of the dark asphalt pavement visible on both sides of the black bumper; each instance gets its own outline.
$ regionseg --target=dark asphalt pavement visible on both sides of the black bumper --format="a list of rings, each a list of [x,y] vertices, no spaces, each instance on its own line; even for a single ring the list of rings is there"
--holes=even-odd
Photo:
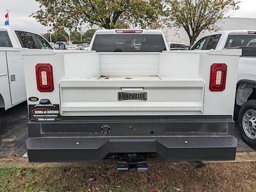
[[[27,122],[28,109],[26,102],[2,111],[2,130],[0,135],[0,157],[24,156],[26,154],[26,139],[28,138]],[[253,152],[242,140],[238,127],[234,136],[238,139],[237,152]]]

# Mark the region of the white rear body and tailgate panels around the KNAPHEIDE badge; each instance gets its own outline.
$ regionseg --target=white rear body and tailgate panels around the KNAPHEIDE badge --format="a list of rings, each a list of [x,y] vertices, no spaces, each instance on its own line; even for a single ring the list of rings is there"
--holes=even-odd
[[[60,104],[63,116],[233,114],[240,50],[22,54],[28,97]],[[36,63],[51,63],[53,92],[37,90]],[[212,63],[228,66],[223,92],[209,90]],[[119,101],[127,90],[146,91],[148,100]]]

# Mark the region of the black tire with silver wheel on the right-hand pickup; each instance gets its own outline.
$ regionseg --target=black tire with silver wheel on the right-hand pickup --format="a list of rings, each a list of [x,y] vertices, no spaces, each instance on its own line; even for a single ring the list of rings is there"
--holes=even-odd
[[[256,148],[256,100],[249,100],[241,107],[238,123],[243,140]]]

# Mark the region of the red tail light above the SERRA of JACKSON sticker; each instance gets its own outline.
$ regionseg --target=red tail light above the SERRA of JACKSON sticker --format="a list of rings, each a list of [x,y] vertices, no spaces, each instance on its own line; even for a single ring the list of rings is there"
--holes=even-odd
[[[52,92],[53,79],[51,64],[36,64],[36,83],[39,92]]]

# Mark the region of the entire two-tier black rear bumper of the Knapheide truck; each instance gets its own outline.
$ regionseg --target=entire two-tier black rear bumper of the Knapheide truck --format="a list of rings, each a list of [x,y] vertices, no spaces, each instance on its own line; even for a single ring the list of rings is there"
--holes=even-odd
[[[232,116],[101,116],[29,122],[30,162],[100,161],[157,153],[180,161],[234,160]]]

